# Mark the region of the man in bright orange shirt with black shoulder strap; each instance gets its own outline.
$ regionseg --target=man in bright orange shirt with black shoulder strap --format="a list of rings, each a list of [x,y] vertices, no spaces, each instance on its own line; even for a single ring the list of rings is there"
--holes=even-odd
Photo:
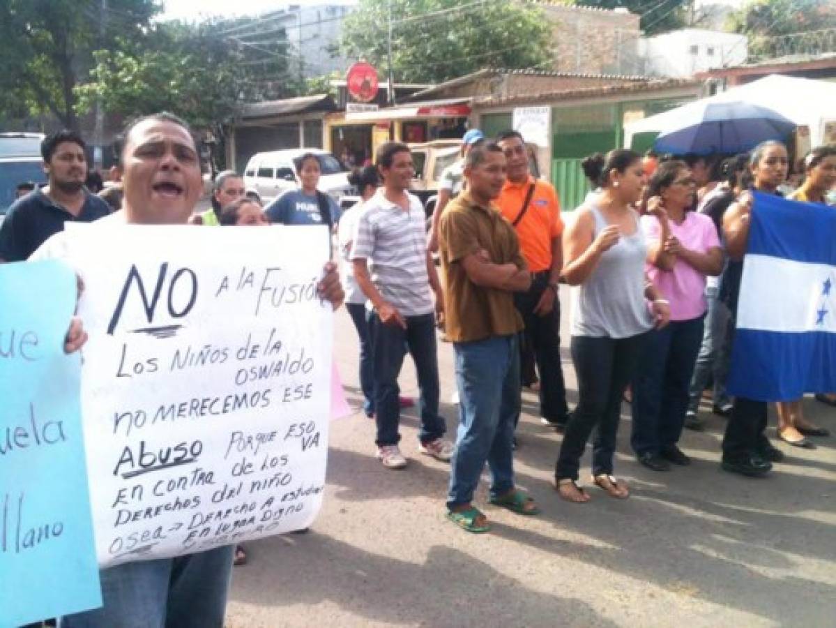
[[[568,418],[558,335],[558,279],[563,268],[560,203],[553,186],[531,176],[523,135],[508,130],[497,141],[507,161],[507,181],[497,206],[517,231],[532,273],[531,288],[516,294],[514,300],[525,323],[525,344],[540,372],[540,420],[559,429]]]

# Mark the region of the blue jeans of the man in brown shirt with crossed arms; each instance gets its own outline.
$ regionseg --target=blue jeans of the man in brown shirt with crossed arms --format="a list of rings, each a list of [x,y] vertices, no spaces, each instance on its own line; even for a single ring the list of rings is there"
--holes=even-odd
[[[491,495],[514,488],[514,422],[520,411],[517,335],[457,342],[459,429],[450,465],[447,507],[470,503],[482,469],[491,469]]]

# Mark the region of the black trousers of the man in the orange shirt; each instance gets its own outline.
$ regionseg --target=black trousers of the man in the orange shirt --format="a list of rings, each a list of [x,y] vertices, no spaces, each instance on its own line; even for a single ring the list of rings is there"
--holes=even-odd
[[[534,314],[543,292],[548,287],[549,272],[535,273],[527,292],[514,294],[514,304],[525,324],[525,345],[533,354],[540,372],[540,416],[557,423],[565,423],[568,416],[563,367],[560,362],[560,301],[554,299],[552,311],[543,316]],[[531,379],[531,374],[528,374]],[[526,382],[527,384],[530,382]]]

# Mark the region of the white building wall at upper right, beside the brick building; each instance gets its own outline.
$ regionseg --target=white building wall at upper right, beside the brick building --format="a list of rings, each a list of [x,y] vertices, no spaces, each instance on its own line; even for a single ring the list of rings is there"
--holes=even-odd
[[[645,74],[691,77],[708,69],[739,65],[747,58],[747,38],[736,33],[683,28],[640,40]]]

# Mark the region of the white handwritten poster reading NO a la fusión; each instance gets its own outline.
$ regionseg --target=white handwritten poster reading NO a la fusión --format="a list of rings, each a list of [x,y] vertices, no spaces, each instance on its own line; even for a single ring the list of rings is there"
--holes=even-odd
[[[307,527],[322,503],[323,227],[72,227],[101,566]]]

